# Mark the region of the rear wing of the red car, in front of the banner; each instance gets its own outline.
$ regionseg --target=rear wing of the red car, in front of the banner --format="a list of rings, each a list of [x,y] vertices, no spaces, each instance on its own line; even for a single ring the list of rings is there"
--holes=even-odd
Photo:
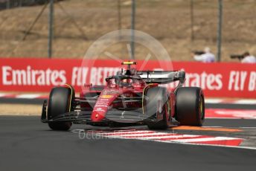
[[[138,71],[137,74],[146,83],[167,84],[179,81],[185,82],[185,71]]]

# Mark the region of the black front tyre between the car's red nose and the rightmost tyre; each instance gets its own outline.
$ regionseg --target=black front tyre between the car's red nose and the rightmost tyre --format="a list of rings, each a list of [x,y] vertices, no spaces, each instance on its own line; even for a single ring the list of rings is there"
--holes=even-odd
[[[170,105],[167,97],[167,90],[163,87],[153,87],[146,91],[145,112],[152,117],[162,116],[162,120],[156,123],[149,123],[149,129],[167,129],[170,125]]]

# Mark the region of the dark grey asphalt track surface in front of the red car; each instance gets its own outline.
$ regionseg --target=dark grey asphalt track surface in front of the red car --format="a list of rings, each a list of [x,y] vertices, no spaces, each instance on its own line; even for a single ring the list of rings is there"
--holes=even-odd
[[[255,126],[256,120],[205,120]],[[80,139],[39,117],[0,117],[0,170],[255,170],[256,150],[122,139]],[[89,126],[75,125],[72,129]],[[194,132],[196,133],[196,132]]]

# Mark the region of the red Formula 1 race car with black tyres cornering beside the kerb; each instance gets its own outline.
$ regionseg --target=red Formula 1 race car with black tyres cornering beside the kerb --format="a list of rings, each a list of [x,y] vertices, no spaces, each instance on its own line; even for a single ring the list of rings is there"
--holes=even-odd
[[[205,101],[202,89],[182,87],[185,71],[126,71],[106,78],[106,86],[85,85],[80,97],[71,86],[52,88],[42,106],[42,122],[68,130],[72,123],[92,126],[138,126],[167,129],[171,125],[202,126]],[[179,81],[170,90],[162,84]]]

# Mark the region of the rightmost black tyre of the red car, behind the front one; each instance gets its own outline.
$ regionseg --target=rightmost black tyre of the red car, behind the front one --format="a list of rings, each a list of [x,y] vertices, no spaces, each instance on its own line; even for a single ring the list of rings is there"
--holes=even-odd
[[[176,120],[182,126],[202,126],[205,120],[205,97],[201,88],[177,89]]]

